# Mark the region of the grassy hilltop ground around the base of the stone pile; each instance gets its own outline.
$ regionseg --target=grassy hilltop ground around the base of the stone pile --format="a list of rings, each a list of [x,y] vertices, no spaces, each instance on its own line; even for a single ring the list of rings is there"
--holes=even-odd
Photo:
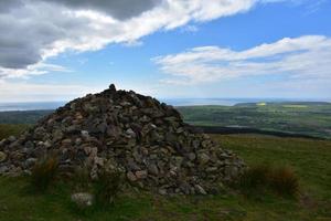
[[[0,220],[331,220],[331,141],[260,135],[213,135],[213,138],[250,166],[267,162],[291,167],[300,178],[298,199],[274,193],[247,198],[231,187],[218,196],[127,192],[113,207],[82,212],[73,207],[72,189],[62,181],[44,194],[32,194],[26,190],[26,178],[0,177]]]

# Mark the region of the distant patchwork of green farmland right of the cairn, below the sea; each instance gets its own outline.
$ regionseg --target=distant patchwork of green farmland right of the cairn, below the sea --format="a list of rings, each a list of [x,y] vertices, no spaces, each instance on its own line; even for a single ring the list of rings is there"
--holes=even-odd
[[[249,127],[331,138],[330,103],[247,103],[235,106],[178,107],[197,126]]]

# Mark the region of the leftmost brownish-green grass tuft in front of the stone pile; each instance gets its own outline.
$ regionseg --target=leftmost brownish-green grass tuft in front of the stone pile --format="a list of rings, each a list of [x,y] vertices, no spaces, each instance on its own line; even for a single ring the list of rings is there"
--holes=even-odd
[[[58,160],[55,155],[45,156],[35,162],[31,173],[31,186],[35,191],[45,191],[55,178]]]

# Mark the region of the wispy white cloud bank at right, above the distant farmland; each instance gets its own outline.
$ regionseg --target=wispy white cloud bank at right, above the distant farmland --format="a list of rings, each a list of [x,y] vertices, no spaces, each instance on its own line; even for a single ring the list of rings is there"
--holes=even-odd
[[[331,39],[321,35],[285,38],[244,51],[218,46],[154,57],[171,84],[199,84],[234,77],[285,75],[331,80]]]

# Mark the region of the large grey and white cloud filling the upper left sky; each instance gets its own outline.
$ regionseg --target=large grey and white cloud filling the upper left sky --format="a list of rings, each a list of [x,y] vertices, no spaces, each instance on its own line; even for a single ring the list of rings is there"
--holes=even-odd
[[[258,0],[0,1],[1,75],[20,72],[19,75],[23,76],[31,69],[29,66],[67,50],[83,52],[99,50],[109,43],[139,44],[141,36],[158,30],[245,12],[257,2]]]

